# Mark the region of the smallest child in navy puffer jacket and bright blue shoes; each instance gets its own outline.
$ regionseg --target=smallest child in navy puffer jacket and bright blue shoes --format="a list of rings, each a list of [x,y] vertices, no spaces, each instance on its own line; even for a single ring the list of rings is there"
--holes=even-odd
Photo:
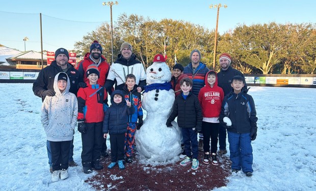
[[[124,94],[121,90],[114,90],[111,94],[111,106],[106,112],[103,120],[103,137],[107,138],[110,134],[111,143],[111,164],[108,169],[118,164],[119,169],[125,169],[124,160],[124,141],[127,132],[127,118],[135,112],[128,100],[123,101]]]

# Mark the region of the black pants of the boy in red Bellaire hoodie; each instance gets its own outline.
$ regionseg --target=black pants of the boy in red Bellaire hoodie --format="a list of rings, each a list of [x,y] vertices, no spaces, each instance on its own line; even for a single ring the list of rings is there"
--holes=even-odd
[[[210,153],[216,153],[217,142],[218,142],[218,131],[220,123],[210,123],[202,121],[202,132],[203,132],[203,149],[204,152],[209,151],[209,138],[210,138]]]

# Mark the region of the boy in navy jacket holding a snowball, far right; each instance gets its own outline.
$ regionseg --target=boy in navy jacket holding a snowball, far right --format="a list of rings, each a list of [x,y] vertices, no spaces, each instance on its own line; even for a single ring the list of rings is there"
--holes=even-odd
[[[232,172],[242,169],[246,176],[252,176],[251,141],[257,137],[258,118],[251,95],[242,90],[244,85],[242,76],[232,78],[233,91],[225,96],[219,119],[223,128],[227,129]],[[231,126],[223,121],[224,117],[231,120]]]

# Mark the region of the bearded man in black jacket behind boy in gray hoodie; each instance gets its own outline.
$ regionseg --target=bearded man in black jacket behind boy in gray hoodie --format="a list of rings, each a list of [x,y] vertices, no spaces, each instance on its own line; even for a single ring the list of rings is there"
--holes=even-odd
[[[33,83],[33,92],[38,97],[42,98],[44,101],[46,96],[54,96],[54,79],[56,74],[60,72],[65,72],[70,80],[70,89],[69,92],[77,95],[78,91],[78,83],[83,82],[83,77],[79,74],[79,72],[68,63],[69,53],[64,48],[59,48],[55,52],[55,60],[51,62],[50,66],[42,69]],[[51,152],[50,152],[50,144],[49,141],[46,141],[47,147],[47,155],[48,155],[48,164],[51,169]],[[70,153],[69,153],[69,166],[77,166],[77,164],[73,161],[73,139],[70,145]],[[52,172],[52,171],[51,171]]]

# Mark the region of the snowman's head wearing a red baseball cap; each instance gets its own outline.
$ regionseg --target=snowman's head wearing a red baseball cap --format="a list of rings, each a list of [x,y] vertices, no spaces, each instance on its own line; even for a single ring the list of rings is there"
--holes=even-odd
[[[147,84],[152,84],[152,83],[165,83],[169,82],[171,80],[171,72],[169,67],[167,66],[165,62],[165,58],[161,60],[157,60],[156,57],[163,55],[157,54],[155,56],[154,62],[150,67],[147,68],[146,74],[146,82]],[[160,57],[159,57],[160,58]]]

